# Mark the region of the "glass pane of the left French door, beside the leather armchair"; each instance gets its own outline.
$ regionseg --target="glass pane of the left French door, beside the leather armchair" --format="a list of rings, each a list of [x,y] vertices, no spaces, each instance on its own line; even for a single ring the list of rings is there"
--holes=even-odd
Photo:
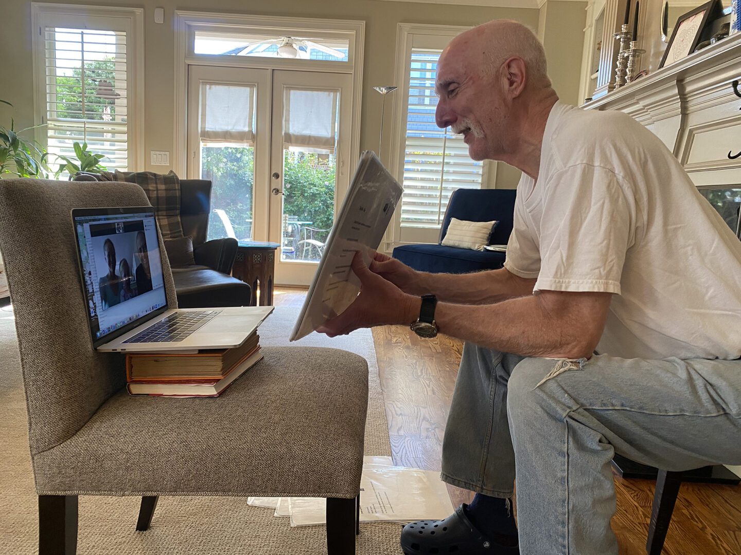
[[[208,239],[252,239],[255,87],[202,84],[201,178],[211,181]]]

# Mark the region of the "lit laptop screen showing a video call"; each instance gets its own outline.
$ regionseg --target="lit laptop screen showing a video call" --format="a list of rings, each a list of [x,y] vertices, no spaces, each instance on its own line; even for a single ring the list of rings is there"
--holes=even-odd
[[[165,312],[153,209],[73,209],[72,219],[93,346]]]

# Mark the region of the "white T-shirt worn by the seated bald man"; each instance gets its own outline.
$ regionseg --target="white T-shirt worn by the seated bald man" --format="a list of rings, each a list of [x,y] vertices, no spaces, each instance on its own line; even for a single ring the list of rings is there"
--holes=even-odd
[[[538,181],[517,186],[505,268],[536,277],[534,292],[614,293],[600,354],[741,357],[741,241],[622,112],[556,103]]]

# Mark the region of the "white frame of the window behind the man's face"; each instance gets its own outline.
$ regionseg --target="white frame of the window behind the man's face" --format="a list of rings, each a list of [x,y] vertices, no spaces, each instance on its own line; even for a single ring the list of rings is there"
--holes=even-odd
[[[396,83],[399,90],[392,94],[393,117],[391,129],[391,161],[389,170],[399,183],[404,178],[404,159],[407,137],[407,112],[409,104],[409,72],[412,48],[442,49],[448,42],[471,27],[453,25],[423,25],[399,23],[396,28]],[[483,164],[482,189],[491,188],[491,181],[496,176],[496,161],[486,160]],[[394,246],[414,243],[436,243],[439,228],[404,226],[402,228],[401,203],[396,207],[389,229],[386,231],[382,248],[391,252]]]

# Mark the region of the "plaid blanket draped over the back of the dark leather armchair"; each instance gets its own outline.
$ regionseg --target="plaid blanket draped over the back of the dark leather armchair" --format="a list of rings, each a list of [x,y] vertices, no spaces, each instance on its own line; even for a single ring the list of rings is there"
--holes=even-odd
[[[183,236],[180,221],[180,180],[175,172],[170,170],[167,175],[162,175],[153,172],[132,173],[116,170],[115,179],[136,183],[144,189],[151,205],[154,206],[163,239]]]

